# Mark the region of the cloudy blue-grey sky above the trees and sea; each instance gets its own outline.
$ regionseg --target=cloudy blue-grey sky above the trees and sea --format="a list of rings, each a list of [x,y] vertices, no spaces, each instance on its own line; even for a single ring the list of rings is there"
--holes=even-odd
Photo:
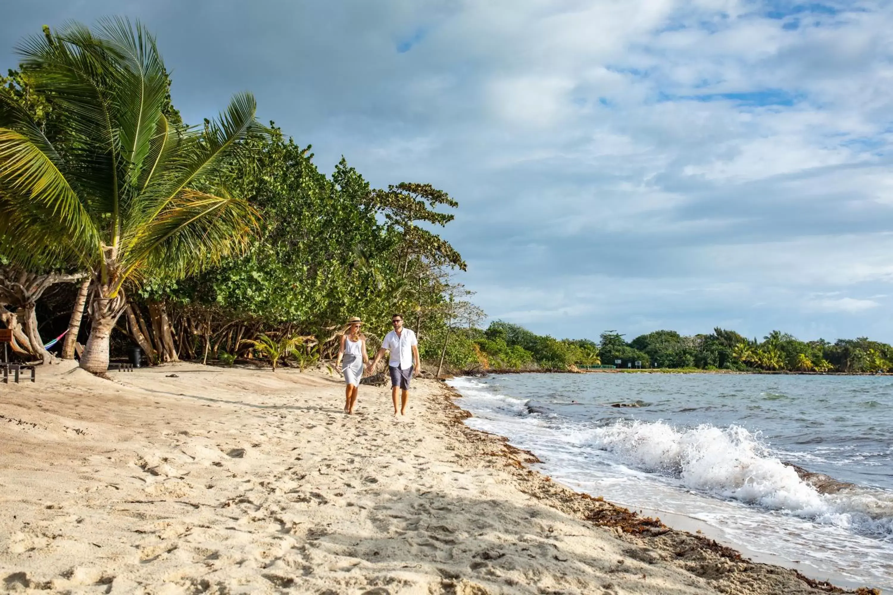
[[[425,182],[490,319],[893,342],[893,4],[6,0],[145,22],[184,119],[252,91],[332,171]]]

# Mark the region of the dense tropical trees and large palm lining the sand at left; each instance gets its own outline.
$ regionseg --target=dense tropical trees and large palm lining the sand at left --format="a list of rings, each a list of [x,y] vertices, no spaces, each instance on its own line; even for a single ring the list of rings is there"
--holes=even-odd
[[[71,312],[92,372],[132,345],[149,364],[305,368],[349,316],[374,348],[401,312],[458,365],[465,263],[434,231],[458,206],[446,192],[373,188],[343,159],[327,176],[250,94],[189,126],[138,23],[45,27],[18,51],[0,78],[0,316],[21,357],[47,360],[38,326],[57,334]]]

